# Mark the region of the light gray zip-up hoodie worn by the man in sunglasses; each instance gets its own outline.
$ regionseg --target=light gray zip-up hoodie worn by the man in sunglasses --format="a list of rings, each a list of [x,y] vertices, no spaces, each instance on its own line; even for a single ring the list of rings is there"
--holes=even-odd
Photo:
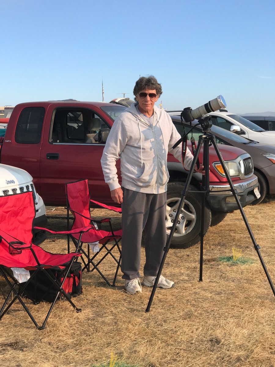
[[[153,124],[137,113],[137,103],[126,108],[111,128],[103,150],[101,165],[110,190],[120,188],[115,162],[120,157],[122,187],[143,193],[159,194],[167,190],[169,173],[167,154],[182,162],[180,139],[167,112],[154,106]],[[184,166],[189,169],[192,153],[187,148]]]

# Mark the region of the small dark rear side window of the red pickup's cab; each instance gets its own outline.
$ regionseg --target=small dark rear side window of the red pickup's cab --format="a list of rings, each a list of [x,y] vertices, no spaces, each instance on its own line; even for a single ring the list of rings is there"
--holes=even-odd
[[[19,115],[15,128],[15,141],[21,144],[39,143],[44,116],[44,107],[24,108]]]

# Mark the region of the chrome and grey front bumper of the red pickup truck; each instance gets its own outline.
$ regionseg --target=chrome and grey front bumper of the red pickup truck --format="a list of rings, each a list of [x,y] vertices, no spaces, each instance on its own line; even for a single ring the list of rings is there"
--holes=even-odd
[[[258,187],[258,179],[255,175],[248,181],[238,183],[234,181],[233,185],[242,207],[245,207],[256,199],[254,188]],[[226,185],[210,185],[207,200],[211,210],[230,212],[239,209],[228,183]]]

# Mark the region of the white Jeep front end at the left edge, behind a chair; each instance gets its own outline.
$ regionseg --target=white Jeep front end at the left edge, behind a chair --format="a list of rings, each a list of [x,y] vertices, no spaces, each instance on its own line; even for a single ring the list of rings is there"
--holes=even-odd
[[[32,191],[36,209],[34,226],[45,227],[47,225],[45,205],[42,198],[36,192],[32,179],[32,176],[21,168],[0,164],[0,196]],[[34,230],[34,244],[40,244],[45,239],[46,236],[43,231]]]

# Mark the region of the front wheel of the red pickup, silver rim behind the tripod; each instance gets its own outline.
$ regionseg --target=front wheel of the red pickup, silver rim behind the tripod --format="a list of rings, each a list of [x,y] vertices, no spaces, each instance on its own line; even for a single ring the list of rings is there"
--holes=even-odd
[[[202,195],[192,185],[190,190],[197,191],[188,192],[183,203],[182,212],[179,217],[179,224],[176,226],[175,233],[171,242],[171,247],[188,248],[198,243],[201,232],[201,200]],[[167,187],[167,202],[166,202],[166,233],[169,237],[170,230],[173,225],[173,218],[175,218],[177,207],[181,199],[181,192],[184,188],[184,182],[170,182]],[[211,223],[211,210],[207,203],[205,203],[205,221],[204,233],[209,229]]]

